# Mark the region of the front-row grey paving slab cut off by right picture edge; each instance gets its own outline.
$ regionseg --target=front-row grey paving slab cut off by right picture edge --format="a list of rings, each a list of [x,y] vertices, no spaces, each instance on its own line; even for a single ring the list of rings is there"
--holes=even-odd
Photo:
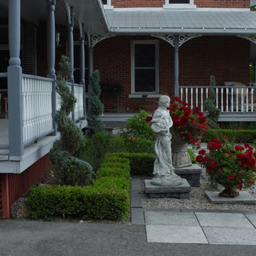
[[[256,245],[255,228],[205,227],[203,231],[211,245]]]

